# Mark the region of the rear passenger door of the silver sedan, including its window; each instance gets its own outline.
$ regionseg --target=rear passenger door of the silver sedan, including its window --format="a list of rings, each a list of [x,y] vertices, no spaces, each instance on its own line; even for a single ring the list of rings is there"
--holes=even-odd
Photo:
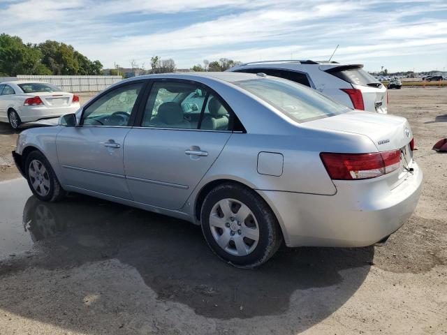
[[[210,107],[213,98],[221,104],[213,101]],[[182,208],[230,138],[230,113],[228,105],[202,84],[154,82],[137,127],[124,143],[124,169],[133,199]]]

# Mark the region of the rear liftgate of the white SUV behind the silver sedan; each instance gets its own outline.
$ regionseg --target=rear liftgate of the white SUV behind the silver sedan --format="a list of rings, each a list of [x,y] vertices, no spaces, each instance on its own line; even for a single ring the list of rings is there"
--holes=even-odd
[[[386,87],[363,70],[361,65],[334,66],[325,72],[349,82],[353,89],[360,90],[365,110],[381,114],[388,112]]]

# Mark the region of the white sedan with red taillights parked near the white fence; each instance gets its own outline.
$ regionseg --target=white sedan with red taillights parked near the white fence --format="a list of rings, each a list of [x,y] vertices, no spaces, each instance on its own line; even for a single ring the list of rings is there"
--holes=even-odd
[[[23,122],[59,117],[79,108],[79,96],[47,82],[0,83],[0,121],[14,129]]]

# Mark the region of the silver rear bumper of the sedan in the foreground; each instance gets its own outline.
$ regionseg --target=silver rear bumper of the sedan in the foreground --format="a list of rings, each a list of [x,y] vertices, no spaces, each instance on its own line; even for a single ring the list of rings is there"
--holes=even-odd
[[[390,191],[386,180],[337,181],[337,194],[258,191],[274,209],[287,246],[370,246],[398,230],[420,196],[423,174]]]

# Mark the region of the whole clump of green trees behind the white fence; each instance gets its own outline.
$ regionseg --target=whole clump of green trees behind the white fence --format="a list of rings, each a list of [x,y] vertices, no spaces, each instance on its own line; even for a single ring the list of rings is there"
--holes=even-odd
[[[31,45],[17,36],[0,35],[0,73],[6,75],[101,75],[102,68],[100,61],[90,61],[65,43]]]

